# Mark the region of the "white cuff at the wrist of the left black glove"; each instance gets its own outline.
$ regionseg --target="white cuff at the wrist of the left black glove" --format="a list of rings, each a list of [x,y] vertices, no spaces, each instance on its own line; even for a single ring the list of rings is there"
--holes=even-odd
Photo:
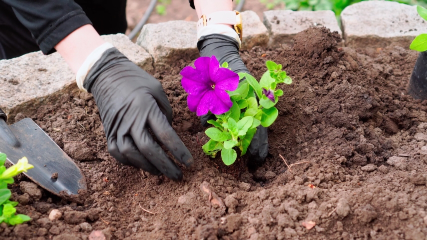
[[[85,87],[83,87],[83,81],[85,81],[86,76],[88,75],[89,71],[91,70],[92,66],[94,66],[95,62],[101,58],[102,54],[107,50],[114,47],[113,44],[110,42],[106,42],[91,52],[88,57],[86,57],[86,60],[83,62],[83,64],[80,66],[79,70],[76,74],[76,82],[77,86],[80,90],[84,92],[88,92]]]

